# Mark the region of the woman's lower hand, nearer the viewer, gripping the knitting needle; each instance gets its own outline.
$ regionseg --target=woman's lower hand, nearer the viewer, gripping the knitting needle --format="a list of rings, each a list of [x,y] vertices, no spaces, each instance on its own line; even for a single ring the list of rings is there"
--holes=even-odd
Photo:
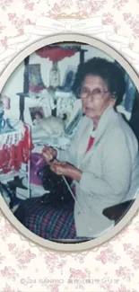
[[[80,181],[82,176],[82,171],[74,167],[72,164],[57,162],[56,160],[50,163],[50,169],[54,173],[58,175],[65,175],[74,181]]]

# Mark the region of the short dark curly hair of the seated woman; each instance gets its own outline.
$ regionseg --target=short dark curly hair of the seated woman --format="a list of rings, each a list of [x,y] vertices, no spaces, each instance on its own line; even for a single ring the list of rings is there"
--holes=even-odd
[[[80,64],[72,88],[77,98],[80,98],[78,96],[78,88],[83,84],[87,75],[98,75],[108,84],[109,92],[117,100],[115,106],[122,102],[126,92],[125,72],[116,61],[111,62],[106,58],[91,58],[87,62]]]

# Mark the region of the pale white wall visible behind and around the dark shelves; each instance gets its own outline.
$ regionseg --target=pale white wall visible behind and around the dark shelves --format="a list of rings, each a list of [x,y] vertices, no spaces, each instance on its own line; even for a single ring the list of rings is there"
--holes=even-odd
[[[100,51],[99,49],[95,49],[88,45],[83,45],[83,49],[88,49],[85,53],[85,60],[93,57],[101,57],[108,58],[110,61],[113,61],[108,55]],[[65,58],[62,61],[58,62],[58,66],[61,74],[61,83],[63,82],[65,71],[67,66],[78,66],[80,61],[79,53],[76,53],[72,58]],[[51,61],[48,58],[40,58],[38,55],[33,53],[30,55],[30,64],[40,64],[41,76],[45,85],[49,84],[49,70],[51,68]],[[4,85],[4,89],[2,94],[6,94],[11,98],[11,109],[10,111],[5,111],[5,116],[13,119],[19,119],[20,111],[19,111],[19,96],[16,93],[22,93],[23,91],[23,72],[24,72],[24,64],[18,66],[11,77],[8,79],[7,83]],[[26,107],[33,106],[30,98],[25,99]],[[25,121],[29,122],[29,112],[25,111]]]

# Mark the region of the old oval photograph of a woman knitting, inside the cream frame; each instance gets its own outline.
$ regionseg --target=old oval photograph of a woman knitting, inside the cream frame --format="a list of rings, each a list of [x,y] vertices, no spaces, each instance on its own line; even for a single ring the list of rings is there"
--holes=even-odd
[[[100,237],[126,215],[139,187],[133,80],[103,50],[80,43],[37,50],[14,78],[17,88],[9,78],[1,93],[3,119],[14,128],[0,134],[4,200],[41,238]]]

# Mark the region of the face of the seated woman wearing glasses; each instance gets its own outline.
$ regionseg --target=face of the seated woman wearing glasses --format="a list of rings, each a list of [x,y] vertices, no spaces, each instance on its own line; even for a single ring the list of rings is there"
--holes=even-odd
[[[81,89],[84,114],[91,119],[100,119],[102,113],[116,100],[109,93],[108,85],[99,75],[87,75]]]

